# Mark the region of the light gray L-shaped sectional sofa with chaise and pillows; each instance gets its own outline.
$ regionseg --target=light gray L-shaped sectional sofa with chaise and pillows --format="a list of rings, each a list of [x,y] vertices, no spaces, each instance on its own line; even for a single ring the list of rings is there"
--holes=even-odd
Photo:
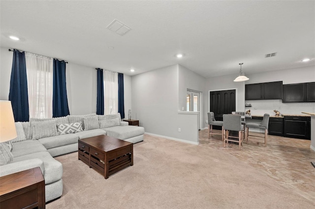
[[[54,157],[77,151],[79,139],[108,135],[137,143],[143,141],[144,134],[143,127],[121,121],[119,113],[30,119],[30,122],[15,124],[18,137],[0,143],[0,176],[40,167],[45,179],[46,202],[63,194],[63,165]]]

